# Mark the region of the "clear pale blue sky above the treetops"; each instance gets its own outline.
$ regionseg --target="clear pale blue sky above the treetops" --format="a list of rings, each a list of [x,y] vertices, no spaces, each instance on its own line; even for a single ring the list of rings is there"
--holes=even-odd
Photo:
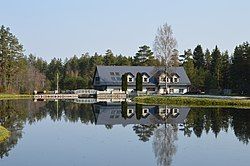
[[[250,40],[249,0],[1,0],[0,24],[26,54],[50,60],[94,52],[133,56],[172,25],[178,50],[197,44],[233,52]]]

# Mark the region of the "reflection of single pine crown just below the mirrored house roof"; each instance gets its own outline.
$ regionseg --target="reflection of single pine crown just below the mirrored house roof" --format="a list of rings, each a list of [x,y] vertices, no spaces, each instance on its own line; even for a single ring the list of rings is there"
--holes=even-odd
[[[138,135],[139,140],[147,142],[149,138],[154,134],[155,125],[134,125],[133,130]]]

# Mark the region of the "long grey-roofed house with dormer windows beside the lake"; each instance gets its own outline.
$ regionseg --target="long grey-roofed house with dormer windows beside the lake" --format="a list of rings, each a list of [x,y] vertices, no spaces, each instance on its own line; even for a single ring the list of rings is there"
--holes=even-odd
[[[171,67],[165,73],[163,67],[154,66],[97,66],[93,87],[101,91],[121,91],[122,75],[127,74],[127,91],[132,92],[136,89],[138,72],[142,74],[143,92],[184,94],[191,85],[183,67]]]

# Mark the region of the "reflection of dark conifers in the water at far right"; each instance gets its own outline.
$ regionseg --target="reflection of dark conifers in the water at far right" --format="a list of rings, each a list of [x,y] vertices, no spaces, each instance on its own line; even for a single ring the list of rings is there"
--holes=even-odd
[[[184,135],[192,131],[197,137],[212,131],[217,137],[220,131],[232,127],[236,137],[245,144],[250,140],[250,112],[235,108],[192,108],[184,124]]]

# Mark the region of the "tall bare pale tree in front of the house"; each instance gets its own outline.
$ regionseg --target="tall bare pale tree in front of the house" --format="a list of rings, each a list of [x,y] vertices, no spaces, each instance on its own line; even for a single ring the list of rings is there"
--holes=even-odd
[[[157,34],[154,41],[154,53],[157,59],[164,65],[165,71],[165,88],[167,92],[167,74],[168,69],[174,66],[176,63],[175,57],[178,54],[176,50],[177,41],[173,36],[171,26],[165,23],[163,26],[157,29]]]

